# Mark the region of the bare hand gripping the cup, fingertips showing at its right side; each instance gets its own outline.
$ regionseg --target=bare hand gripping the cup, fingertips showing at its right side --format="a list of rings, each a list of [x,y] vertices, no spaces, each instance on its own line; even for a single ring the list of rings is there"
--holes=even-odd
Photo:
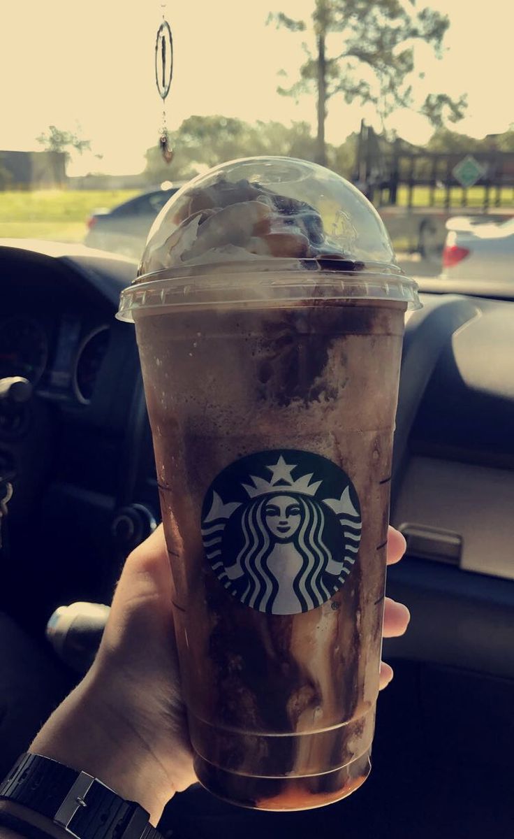
[[[405,539],[389,529],[387,562]],[[174,792],[196,781],[174,643],[169,556],[162,527],[128,557],[95,662],[39,732],[31,751],[96,775],[156,824]],[[386,598],[384,637],[408,609]],[[382,663],[381,689],[392,679]]]

